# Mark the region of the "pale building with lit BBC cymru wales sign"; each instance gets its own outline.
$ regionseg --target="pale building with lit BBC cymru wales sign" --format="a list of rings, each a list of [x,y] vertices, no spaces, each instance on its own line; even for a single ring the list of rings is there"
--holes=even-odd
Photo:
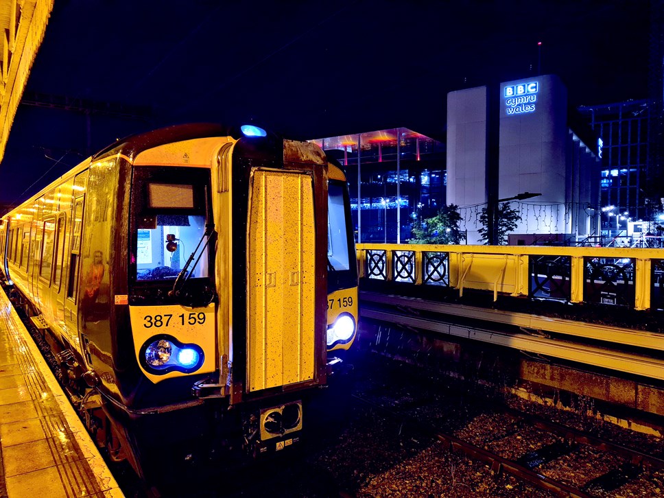
[[[597,149],[580,135],[554,75],[449,93],[447,202],[461,208],[467,243],[483,243],[482,209],[501,202],[521,217],[517,244],[598,235]]]

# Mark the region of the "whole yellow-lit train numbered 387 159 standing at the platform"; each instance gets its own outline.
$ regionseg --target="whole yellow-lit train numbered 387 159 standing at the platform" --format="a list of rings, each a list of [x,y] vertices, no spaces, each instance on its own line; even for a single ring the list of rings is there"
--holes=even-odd
[[[63,195],[62,213],[43,201]],[[95,389],[82,408],[97,438],[139,473],[200,441],[254,455],[296,444],[328,353],[357,333],[344,174],[260,128],[119,141],[2,229],[21,303],[73,383]]]

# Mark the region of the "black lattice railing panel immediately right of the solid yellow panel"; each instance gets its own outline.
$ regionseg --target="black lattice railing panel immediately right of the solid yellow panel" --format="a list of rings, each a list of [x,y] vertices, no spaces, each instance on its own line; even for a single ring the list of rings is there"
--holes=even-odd
[[[571,298],[569,256],[530,257],[530,298],[569,301]]]

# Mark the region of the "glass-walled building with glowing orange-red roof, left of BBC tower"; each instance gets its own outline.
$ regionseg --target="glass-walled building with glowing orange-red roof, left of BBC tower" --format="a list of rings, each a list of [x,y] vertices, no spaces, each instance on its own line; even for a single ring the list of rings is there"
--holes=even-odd
[[[312,141],[344,166],[358,242],[405,243],[414,220],[445,204],[440,141],[407,128]]]

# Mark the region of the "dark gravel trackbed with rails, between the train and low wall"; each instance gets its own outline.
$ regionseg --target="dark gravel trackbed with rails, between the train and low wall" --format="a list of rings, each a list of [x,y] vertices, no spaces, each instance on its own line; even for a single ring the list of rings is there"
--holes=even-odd
[[[554,422],[482,397],[472,386],[451,388],[449,379],[423,368],[375,360],[368,355],[359,361],[353,400],[363,408],[352,421],[359,430],[348,429],[329,441],[329,449],[258,473],[260,478],[252,474],[251,485],[245,480],[239,489],[220,489],[198,482],[193,495],[261,496],[270,490],[274,496],[364,498],[389,490],[404,497],[502,496],[505,490],[506,496],[628,497],[664,490],[661,441],[630,447],[599,434],[592,422],[586,422],[589,429]],[[51,363],[56,367],[54,359]],[[344,418],[332,423],[342,421],[350,423]],[[390,451],[391,460],[381,455]],[[358,464],[362,458],[374,460],[367,462],[370,470],[358,471],[364,469]],[[204,475],[214,469],[213,461],[196,466]],[[150,495],[126,479],[120,480],[130,495]],[[188,496],[180,491],[174,496]]]

